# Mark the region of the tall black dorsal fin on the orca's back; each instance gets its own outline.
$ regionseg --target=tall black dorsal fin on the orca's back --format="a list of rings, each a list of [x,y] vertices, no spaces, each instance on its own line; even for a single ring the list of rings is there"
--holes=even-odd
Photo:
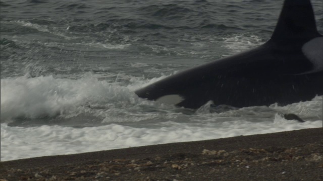
[[[285,0],[273,41],[311,39],[320,36],[317,32],[310,0]]]

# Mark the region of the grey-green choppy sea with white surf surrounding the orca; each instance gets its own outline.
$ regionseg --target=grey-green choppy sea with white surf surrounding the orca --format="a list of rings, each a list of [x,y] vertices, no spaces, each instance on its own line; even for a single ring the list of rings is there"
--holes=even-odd
[[[263,44],[282,4],[1,0],[1,161],[322,127],[322,96],[217,113],[134,94]],[[323,34],[322,1],[312,5]]]

